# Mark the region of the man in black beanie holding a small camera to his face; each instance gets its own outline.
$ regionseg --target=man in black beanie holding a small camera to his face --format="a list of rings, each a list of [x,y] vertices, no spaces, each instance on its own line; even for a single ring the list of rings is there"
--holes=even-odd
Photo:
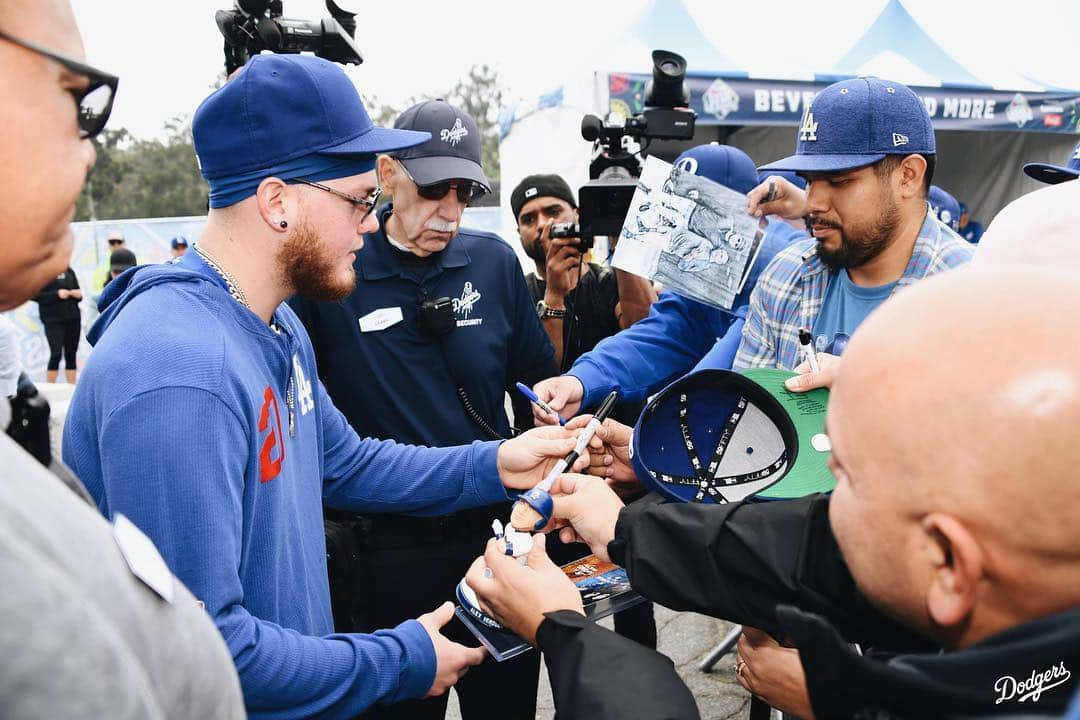
[[[559,234],[561,226],[578,222],[578,203],[566,180],[558,175],[529,175],[514,188],[510,207],[522,247],[536,263],[536,272],[525,280],[555,347],[559,370],[649,314],[657,293],[648,279],[583,263],[584,239],[553,236],[553,229]]]

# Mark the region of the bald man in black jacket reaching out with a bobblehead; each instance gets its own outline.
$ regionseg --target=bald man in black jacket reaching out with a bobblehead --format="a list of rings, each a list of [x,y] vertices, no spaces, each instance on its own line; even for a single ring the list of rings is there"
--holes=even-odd
[[[1080,668],[1077,307],[1072,274],[981,269],[872,314],[829,402],[831,498],[623,508],[567,475],[555,516],[646,597],[798,648],[802,716],[1059,717]],[[616,462],[627,431],[606,429]],[[538,543],[468,578],[544,651],[556,709],[697,717],[671,663],[585,621],[552,569]]]

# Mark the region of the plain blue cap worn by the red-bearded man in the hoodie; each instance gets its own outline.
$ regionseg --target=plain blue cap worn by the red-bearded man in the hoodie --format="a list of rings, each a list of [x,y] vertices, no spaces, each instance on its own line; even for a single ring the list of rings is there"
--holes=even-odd
[[[430,137],[376,127],[341,67],[311,55],[256,55],[202,101],[191,133],[213,207],[253,194],[261,177],[279,172],[309,179],[346,177],[356,172],[350,161],[364,158],[374,167],[375,153]],[[321,177],[314,177],[319,171]],[[226,180],[242,180],[242,187],[229,187],[229,196],[215,204]]]

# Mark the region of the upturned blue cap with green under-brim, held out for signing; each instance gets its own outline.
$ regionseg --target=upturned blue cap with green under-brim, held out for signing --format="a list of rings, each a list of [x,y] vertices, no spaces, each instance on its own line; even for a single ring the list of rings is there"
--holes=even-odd
[[[726,503],[828,492],[828,391],[793,393],[794,372],[706,369],[658,393],[634,425],[634,472],[670,500]]]

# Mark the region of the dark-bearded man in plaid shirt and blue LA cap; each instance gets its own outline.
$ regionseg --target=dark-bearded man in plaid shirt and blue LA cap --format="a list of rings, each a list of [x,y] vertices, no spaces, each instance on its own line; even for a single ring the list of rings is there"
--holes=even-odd
[[[796,153],[761,168],[794,171],[807,190],[771,177],[750,193],[750,210],[805,217],[813,237],[761,273],[737,369],[796,368],[799,328],[839,354],[894,291],[971,259],[971,245],[929,212],[935,153],[930,116],[901,83],[845,80],[807,106]]]

